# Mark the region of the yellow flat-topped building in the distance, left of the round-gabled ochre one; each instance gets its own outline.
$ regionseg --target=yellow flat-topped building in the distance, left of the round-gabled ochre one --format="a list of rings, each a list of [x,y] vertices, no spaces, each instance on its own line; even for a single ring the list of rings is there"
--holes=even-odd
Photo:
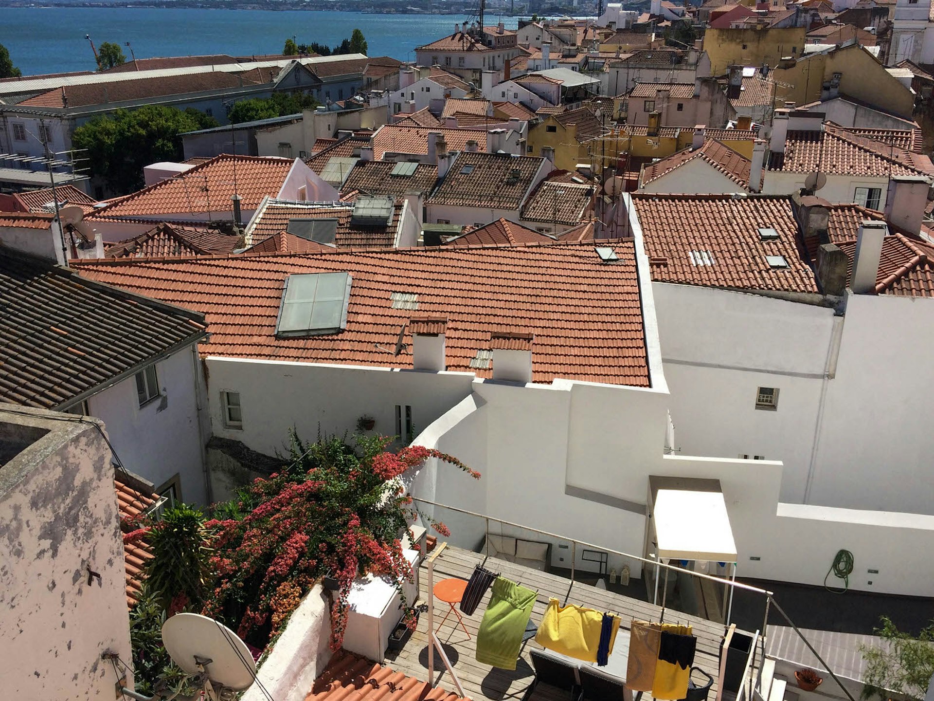
[[[711,75],[722,76],[730,65],[777,65],[786,56],[797,58],[804,43],[804,27],[708,29],[703,50],[710,57]]]

